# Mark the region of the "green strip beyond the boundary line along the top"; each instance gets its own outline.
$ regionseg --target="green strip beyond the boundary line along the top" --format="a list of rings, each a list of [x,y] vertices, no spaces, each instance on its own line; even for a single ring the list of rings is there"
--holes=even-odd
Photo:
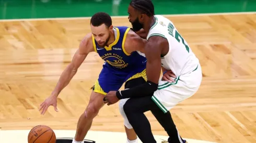
[[[0,19],[126,16],[130,0],[0,0]],[[156,14],[255,11],[255,0],[153,0]],[[97,7],[97,8],[96,8]]]

